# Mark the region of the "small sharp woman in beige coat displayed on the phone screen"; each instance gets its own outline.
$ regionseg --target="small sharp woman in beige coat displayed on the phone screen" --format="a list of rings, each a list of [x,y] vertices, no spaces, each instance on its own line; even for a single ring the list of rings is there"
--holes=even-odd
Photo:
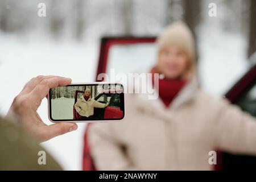
[[[94,107],[105,108],[109,105],[109,102],[106,104],[102,104],[92,98],[90,98],[90,89],[85,89],[84,95],[77,100],[75,104],[75,109],[81,117],[79,120],[88,120],[93,119],[93,111]]]

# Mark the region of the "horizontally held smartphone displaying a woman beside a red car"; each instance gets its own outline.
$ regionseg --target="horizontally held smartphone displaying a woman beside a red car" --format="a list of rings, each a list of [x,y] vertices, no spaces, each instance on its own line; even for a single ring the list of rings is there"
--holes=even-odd
[[[51,122],[116,121],[124,116],[122,84],[93,82],[49,90],[48,117]]]

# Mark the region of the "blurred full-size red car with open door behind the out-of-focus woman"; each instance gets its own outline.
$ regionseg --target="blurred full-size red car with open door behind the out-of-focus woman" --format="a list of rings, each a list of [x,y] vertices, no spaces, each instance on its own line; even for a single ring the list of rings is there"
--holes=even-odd
[[[126,67],[118,67],[121,69],[120,72],[124,72],[123,70],[131,68],[127,66],[129,63],[136,63],[137,67],[143,65],[142,60],[146,60],[150,62],[152,55],[150,54],[152,51],[151,47],[154,47],[155,38],[135,38],[135,37],[125,37],[125,38],[103,38],[101,40],[101,49],[100,49],[100,59],[98,62],[97,75],[99,73],[108,72],[108,65],[122,65],[125,64]],[[126,59],[125,56],[122,55],[122,61],[126,63],[120,63],[121,58],[115,59],[115,52],[122,52],[123,47],[126,48],[127,57],[130,56],[130,60]],[[117,49],[121,47],[121,49]],[[143,54],[144,59],[139,59],[139,56],[134,56],[131,53],[131,49],[135,47],[137,50],[135,53]],[[142,47],[144,49],[142,50]],[[141,49],[138,51],[138,49]],[[145,54],[146,52],[146,54]],[[153,55],[154,56],[154,55]],[[145,59],[146,57],[146,59]],[[138,60],[139,59],[139,60]],[[130,62],[128,62],[130,61]],[[155,60],[154,60],[155,61]],[[254,54],[254,60],[251,60],[252,63],[256,63],[256,53]],[[97,77],[96,75],[96,77]],[[247,111],[254,117],[256,117],[256,64],[252,65],[251,68],[247,71],[247,73],[241,77],[237,83],[230,88],[229,92],[225,94],[225,97],[234,105],[240,106],[242,110]],[[90,157],[90,150],[87,142],[87,135],[85,132],[84,135],[84,159],[83,159],[83,169],[84,170],[94,170],[96,169],[93,165],[93,160]],[[217,165],[214,166],[216,170],[221,169],[254,169],[256,166],[256,157],[249,155],[233,155],[226,152],[218,152],[217,156]]]

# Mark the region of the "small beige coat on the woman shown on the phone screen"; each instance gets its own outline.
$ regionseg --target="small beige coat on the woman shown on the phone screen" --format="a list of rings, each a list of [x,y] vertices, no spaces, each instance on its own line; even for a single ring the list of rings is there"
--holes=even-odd
[[[94,107],[104,108],[106,107],[106,104],[102,104],[92,98],[89,98],[88,101],[85,101],[83,96],[79,100],[77,100],[75,104],[75,109],[77,113],[85,117],[93,115]]]

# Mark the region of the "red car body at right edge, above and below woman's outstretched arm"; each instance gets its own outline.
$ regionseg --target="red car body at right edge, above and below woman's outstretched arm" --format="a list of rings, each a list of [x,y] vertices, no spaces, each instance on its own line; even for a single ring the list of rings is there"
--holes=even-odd
[[[256,63],[256,60],[254,60]],[[225,94],[225,97],[243,111],[256,117],[256,64]],[[256,167],[256,156],[234,155],[222,152],[220,156],[221,169],[251,170]]]

